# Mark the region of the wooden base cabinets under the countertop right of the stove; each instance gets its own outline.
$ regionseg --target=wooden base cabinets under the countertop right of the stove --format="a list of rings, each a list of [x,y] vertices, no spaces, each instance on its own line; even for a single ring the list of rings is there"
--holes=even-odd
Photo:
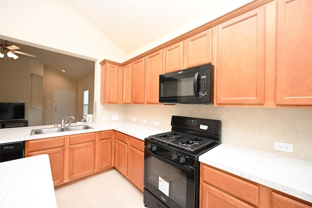
[[[312,203],[201,163],[202,208],[312,208]]]

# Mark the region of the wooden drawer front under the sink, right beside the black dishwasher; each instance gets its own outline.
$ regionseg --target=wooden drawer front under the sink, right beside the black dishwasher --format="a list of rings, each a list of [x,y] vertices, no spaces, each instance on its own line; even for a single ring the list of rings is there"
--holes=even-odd
[[[28,141],[28,152],[63,147],[64,139],[65,137],[52,137]]]

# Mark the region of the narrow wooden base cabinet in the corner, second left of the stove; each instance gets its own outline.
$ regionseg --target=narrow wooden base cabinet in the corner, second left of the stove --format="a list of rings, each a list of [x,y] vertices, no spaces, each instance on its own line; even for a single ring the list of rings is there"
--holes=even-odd
[[[128,135],[120,132],[115,133],[115,168],[128,176]]]

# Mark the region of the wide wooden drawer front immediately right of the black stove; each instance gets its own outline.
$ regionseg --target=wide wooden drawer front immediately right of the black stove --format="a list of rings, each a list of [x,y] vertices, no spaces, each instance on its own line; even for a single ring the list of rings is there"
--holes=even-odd
[[[203,167],[203,181],[211,186],[222,190],[236,198],[251,203],[259,204],[259,187],[247,181],[235,178],[221,171]]]

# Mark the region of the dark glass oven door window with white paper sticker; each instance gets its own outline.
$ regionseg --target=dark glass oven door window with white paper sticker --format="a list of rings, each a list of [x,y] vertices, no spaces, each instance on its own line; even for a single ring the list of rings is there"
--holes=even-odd
[[[186,208],[187,173],[150,156],[147,180],[182,208]]]

